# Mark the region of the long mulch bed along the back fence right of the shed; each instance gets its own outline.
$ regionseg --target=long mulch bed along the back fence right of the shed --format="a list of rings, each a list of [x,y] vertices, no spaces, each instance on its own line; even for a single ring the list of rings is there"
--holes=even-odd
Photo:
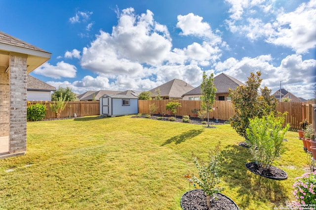
[[[150,117],[150,119],[157,120],[158,117],[161,117],[161,115],[152,115]],[[162,117],[161,120],[168,121],[169,117],[174,117],[174,116],[166,115],[165,117]],[[142,115],[141,117],[132,116],[131,118],[145,118],[145,115]],[[176,116],[176,120],[175,121],[176,122],[182,122],[182,123],[191,123],[191,124],[202,124],[202,121],[206,121],[205,126],[207,126],[207,119],[201,120],[199,118],[190,117],[190,122],[183,122],[182,121],[182,116]],[[225,124],[225,122],[226,122],[225,120],[217,120],[217,119],[209,119],[209,121],[210,121],[210,127],[211,127],[211,125],[222,125],[222,124]],[[215,128],[215,127],[213,127],[213,128]]]

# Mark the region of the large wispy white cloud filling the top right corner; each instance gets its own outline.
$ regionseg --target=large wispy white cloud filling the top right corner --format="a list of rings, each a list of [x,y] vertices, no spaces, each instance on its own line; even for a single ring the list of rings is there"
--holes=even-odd
[[[307,53],[316,46],[316,0],[302,3],[294,11],[274,9],[271,0],[226,0],[231,4],[226,24],[232,32],[250,40],[264,38],[267,43]],[[265,14],[265,15],[262,15]]]

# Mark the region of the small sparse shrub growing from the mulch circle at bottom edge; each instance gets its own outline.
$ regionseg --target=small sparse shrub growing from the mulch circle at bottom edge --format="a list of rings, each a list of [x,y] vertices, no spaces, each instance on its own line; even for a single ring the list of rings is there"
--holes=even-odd
[[[193,176],[193,181],[200,186],[206,194],[206,204],[207,208],[210,208],[210,197],[214,193],[221,192],[223,187],[216,187],[221,180],[219,178],[220,173],[220,161],[221,161],[221,150],[220,142],[215,146],[215,150],[209,151],[208,161],[204,162],[201,158],[192,154],[194,164],[198,170],[198,177]]]

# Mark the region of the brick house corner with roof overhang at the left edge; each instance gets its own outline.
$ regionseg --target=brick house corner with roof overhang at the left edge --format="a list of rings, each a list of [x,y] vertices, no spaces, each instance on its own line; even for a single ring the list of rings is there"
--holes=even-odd
[[[0,158],[26,152],[27,74],[50,57],[0,31]]]

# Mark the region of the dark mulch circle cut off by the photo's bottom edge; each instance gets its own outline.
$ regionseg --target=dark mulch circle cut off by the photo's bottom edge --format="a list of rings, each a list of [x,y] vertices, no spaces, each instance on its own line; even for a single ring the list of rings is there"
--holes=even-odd
[[[221,193],[215,193],[210,199],[210,210],[239,210],[235,202]],[[207,210],[206,194],[202,189],[194,189],[183,194],[181,198],[183,210]]]

